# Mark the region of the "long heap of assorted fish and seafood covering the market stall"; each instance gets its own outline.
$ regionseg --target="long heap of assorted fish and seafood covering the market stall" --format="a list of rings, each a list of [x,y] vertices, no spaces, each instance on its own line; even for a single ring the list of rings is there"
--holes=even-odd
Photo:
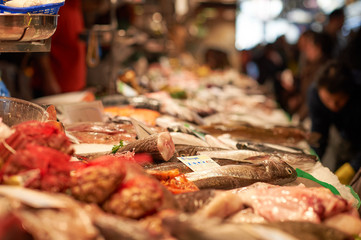
[[[104,122],[0,124],[0,238],[361,237],[355,199],[298,176],[317,136],[251,79],[215,76],[187,99],[108,97]]]

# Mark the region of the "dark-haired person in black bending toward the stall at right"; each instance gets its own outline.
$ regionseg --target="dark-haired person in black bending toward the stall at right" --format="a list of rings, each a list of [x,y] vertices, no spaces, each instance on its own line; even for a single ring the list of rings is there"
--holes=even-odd
[[[341,144],[333,146],[333,151],[335,174],[343,184],[349,184],[361,167],[361,92],[355,80],[345,64],[329,61],[307,97],[311,130],[321,134],[319,146],[315,148],[320,159],[330,142],[330,127],[334,126],[341,136]]]

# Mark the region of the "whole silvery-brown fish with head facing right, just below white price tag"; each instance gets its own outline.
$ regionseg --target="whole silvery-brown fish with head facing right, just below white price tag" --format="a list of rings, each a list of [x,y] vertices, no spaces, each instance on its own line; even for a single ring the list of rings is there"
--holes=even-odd
[[[185,174],[199,189],[234,189],[255,182],[286,184],[297,178],[296,171],[279,159],[258,164],[225,165]]]

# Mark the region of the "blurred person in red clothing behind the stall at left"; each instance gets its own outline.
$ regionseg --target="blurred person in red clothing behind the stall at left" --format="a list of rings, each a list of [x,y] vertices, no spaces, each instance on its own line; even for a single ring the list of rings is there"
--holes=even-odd
[[[86,46],[79,38],[84,30],[81,0],[67,0],[59,10],[50,53],[34,61],[34,97],[83,90],[86,85]]]

